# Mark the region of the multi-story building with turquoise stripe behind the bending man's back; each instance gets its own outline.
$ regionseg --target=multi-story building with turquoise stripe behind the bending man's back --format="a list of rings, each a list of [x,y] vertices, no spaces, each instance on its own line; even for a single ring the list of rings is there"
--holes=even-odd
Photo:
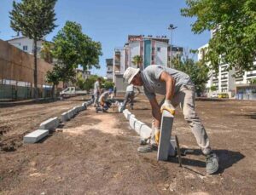
[[[172,52],[171,52],[172,50]],[[182,54],[183,48],[169,44],[166,36],[153,37],[148,35],[129,35],[128,42],[123,48],[114,49],[113,54],[113,83],[118,90],[124,90],[123,74],[127,67],[137,67],[133,57],[139,55],[143,62],[139,65],[142,70],[149,65],[171,66],[171,57]]]

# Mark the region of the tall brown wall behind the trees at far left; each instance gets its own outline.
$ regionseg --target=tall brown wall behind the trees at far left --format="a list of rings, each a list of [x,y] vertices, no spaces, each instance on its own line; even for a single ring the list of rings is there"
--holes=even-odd
[[[4,98],[19,97],[19,94],[32,93],[34,60],[32,54],[17,49],[15,46],[0,39],[0,84],[9,85],[0,90]],[[44,95],[43,85],[49,85],[45,82],[46,72],[52,70],[52,65],[44,60],[38,59],[38,88],[39,94]],[[12,87],[10,87],[12,86]],[[15,86],[15,88],[14,88]],[[26,88],[26,92],[20,92],[19,87]],[[12,95],[6,89],[12,90]],[[18,91],[17,91],[18,90]],[[23,89],[22,89],[23,90]],[[30,90],[30,92],[28,92]],[[26,98],[27,95],[21,95]],[[29,96],[29,95],[28,95]],[[0,96],[1,98],[1,96]]]

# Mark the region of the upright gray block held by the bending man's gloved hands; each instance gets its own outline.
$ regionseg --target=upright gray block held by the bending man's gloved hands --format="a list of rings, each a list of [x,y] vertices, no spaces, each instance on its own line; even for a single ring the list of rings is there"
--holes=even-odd
[[[173,115],[170,112],[163,111],[160,127],[160,142],[157,152],[157,160],[166,161],[170,148],[172,134]]]

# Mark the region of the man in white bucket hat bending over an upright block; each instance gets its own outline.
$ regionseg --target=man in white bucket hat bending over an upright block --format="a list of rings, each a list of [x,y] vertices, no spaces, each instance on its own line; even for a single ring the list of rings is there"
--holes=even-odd
[[[202,153],[206,156],[207,174],[218,171],[218,157],[212,152],[207,132],[201,119],[195,113],[195,85],[189,75],[165,66],[151,65],[140,71],[139,68],[128,67],[124,73],[125,80],[130,84],[143,86],[148,97],[154,117],[152,139],[158,145],[160,137],[160,109],[175,111],[180,105],[185,120],[189,123],[192,133]],[[166,95],[162,105],[156,100],[156,94]],[[154,145],[140,146],[138,152],[152,152]]]

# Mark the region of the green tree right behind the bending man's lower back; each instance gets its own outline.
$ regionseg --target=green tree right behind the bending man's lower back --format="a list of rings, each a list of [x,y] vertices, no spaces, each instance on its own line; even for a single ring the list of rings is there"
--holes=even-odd
[[[189,58],[189,56],[177,56],[172,60],[172,65],[175,69],[185,72],[191,77],[193,83],[195,83],[195,92],[197,95],[205,89],[205,85],[209,79],[208,67],[202,61],[195,62],[195,60]]]

